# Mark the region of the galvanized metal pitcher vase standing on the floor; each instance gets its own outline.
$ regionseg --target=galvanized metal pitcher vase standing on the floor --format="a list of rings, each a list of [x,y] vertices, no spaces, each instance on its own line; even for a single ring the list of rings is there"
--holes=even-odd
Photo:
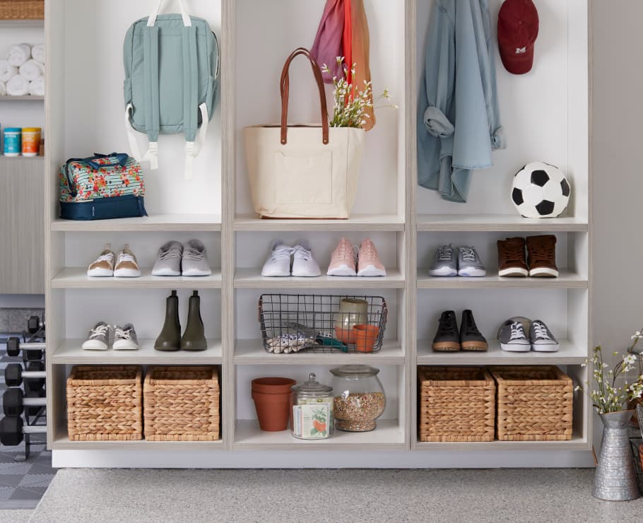
[[[627,423],[634,411],[601,414],[603,443],[594,476],[594,498],[628,501],[639,497]]]

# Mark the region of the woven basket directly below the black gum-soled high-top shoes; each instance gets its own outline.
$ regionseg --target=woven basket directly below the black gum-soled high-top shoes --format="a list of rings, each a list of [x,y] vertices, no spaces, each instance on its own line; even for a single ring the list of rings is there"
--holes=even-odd
[[[420,441],[493,441],[495,382],[483,368],[420,367]]]

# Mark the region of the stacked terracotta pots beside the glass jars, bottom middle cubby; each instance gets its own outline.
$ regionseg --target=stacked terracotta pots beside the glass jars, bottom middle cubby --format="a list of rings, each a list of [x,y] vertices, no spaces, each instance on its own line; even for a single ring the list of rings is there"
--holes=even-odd
[[[288,377],[260,377],[252,380],[252,399],[261,430],[278,432],[288,428],[290,387]]]

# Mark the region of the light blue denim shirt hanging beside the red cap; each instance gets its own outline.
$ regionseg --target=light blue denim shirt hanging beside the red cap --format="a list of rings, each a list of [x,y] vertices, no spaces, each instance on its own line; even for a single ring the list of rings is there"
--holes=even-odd
[[[436,0],[418,102],[418,182],[466,202],[471,170],[505,148],[488,0]]]

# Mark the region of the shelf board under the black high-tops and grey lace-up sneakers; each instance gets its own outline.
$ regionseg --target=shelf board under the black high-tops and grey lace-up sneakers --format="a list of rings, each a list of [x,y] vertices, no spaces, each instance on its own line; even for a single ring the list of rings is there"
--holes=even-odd
[[[497,340],[488,340],[487,351],[434,352],[431,340],[418,340],[418,365],[580,365],[587,357],[584,348],[567,339],[558,340],[558,352],[508,352]]]

